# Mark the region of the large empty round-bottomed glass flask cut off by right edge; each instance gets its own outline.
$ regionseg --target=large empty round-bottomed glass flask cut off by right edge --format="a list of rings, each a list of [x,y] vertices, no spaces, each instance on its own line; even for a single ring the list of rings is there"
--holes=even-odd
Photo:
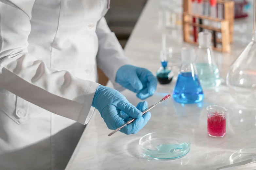
[[[253,37],[227,74],[227,85],[231,96],[242,106],[255,108],[256,101],[256,0],[253,5]]]

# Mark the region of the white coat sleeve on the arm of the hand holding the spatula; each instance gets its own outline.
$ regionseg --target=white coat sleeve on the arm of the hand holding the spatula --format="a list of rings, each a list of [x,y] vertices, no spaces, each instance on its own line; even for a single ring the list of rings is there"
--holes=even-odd
[[[28,53],[33,4],[34,0],[0,0],[0,87],[84,124],[98,84],[49,68]]]

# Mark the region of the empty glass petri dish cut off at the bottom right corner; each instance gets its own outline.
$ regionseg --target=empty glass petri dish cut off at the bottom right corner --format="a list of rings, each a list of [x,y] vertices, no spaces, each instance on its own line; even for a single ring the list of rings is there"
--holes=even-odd
[[[256,148],[239,149],[230,155],[230,164],[256,158]]]

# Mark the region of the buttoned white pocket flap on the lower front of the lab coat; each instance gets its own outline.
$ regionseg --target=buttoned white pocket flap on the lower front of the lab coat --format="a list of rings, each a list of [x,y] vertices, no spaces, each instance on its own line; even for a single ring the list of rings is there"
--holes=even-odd
[[[0,92],[0,109],[17,124],[24,124],[44,111],[11,92]]]

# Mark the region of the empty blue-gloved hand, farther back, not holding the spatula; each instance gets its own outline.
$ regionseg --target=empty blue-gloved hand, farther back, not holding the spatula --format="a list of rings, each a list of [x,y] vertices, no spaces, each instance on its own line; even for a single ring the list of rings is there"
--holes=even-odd
[[[152,96],[157,87],[157,79],[149,70],[133,65],[120,67],[116,72],[115,81],[137,93],[136,96],[142,100]]]

